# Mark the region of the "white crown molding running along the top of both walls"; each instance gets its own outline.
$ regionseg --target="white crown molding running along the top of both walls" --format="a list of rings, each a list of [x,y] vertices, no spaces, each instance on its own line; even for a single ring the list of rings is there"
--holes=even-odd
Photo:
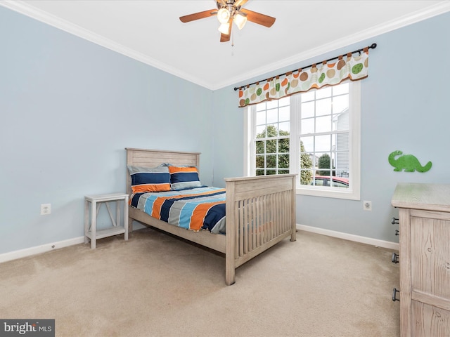
[[[150,65],[159,70],[172,74],[176,77],[180,77],[181,79],[186,79],[186,81],[198,84],[199,86],[203,86],[212,91],[224,88],[226,86],[238,86],[237,84],[245,85],[243,84],[243,82],[248,81],[248,79],[259,77],[269,72],[274,72],[283,67],[294,65],[298,62],[314,58],[318,55],[323,55],[325,53],[335,51],[336,49],[349,46],[350,44],[355,44],[359,41],[371,39],[373,37],[377,37],[380,34],[391,32],[392,30],[399,29],[407,25],[412,25],[413,23],[420,22],[428,18],[432,18],[436,15],[440,15],[450,11],[450,1],[444,0],[434,6],[430,6],[425,11],[417,11],[410,15],[405,15],[404,17],[399,18],[397,20],[392,20],[390,22],[384,23],[383,25],[378,25],[371,29],[366,29],[362,32],[358,32],[357,34],[352,34],[342,39],[333,41],[333,43],[309,49],[308,51],[304,51],[303,53],[293,55],[290,58],[285,58],[283,60],[279,60],[277,62],[266,65],[264,67],[259,67],[250,72],[245,72],[243,74],[240,74],[239,77],[234,77],[228,79],[227,81],[219,83],[216,82],[212,84],[203,81],[199,77],[193,77],[191,74],[182,72],[181,70],[169,66],[164,62],[160,62],[158,60],[148,57],[147,55],[143,55],[142,53],[134,51],[131,48],[127,48],[125,46],[122,46],[121,44],[117,44],[117,42],[115,41],[106,39],[105,37],[102,37],[101,35],[95,34],[94,32],[79,27],[78,25],[75,25],[72,22],[68,22],[61,18],[58,18],[56,17],[56,15],[51,15],[45,11],[41,11],[37,8],[34,8],[28,4],[25,4],[23,1],[3,0],[0,1],[0,6],[9,8],[12,11],[16,11],[23,15],[27,15],[30,18],[34,18],[35,20],[44,22],[48,25],[61,29],[77,37],[81,37],[82,39],[91,41],[94,44],[98,44],[99,46],[103,46],[117,53],[121,53],[122,55],[126,55],[129,58],[133,58],[134,60],[143,62],[146,65]]]

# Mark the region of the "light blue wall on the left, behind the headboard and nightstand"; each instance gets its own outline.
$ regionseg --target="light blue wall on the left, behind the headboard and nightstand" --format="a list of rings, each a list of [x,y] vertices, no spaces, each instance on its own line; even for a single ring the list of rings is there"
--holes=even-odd
[[[82,236],[124,147],[202,152],[212,183],[212,91],[3,7],[0,46],[0,253]]]

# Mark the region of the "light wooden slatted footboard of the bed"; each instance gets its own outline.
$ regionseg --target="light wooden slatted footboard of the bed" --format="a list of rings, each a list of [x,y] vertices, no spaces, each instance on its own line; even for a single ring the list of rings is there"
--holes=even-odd
[[[226,282],[231,284],[236,267],[286,237],[295,241],[295,175],[225,180]]]

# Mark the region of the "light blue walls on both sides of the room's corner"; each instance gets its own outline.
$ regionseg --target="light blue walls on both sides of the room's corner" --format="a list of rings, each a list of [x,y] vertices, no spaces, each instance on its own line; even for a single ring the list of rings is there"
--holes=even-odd
[[[446,13],[240,83],[378,43],[361,81],[361,200],[373,211],[297,196],[297,223],[397,242],[397,182],[450,183],[449,29]],[[124,147],[202,152],[205,184],[243,175],[233,86],[212,92],[2,7],[0,46],[0,253],[82,236],[84,195],[124,192]],[[394,172],[393,150],[433,167]]]

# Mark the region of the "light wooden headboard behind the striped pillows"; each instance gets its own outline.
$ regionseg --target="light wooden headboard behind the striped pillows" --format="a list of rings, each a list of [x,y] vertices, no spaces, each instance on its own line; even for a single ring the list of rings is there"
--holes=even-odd
[[[127,165],[156,167],[164,163],[197,166],[200,171],[200,152],[181,152],[167,150],[145,150],[125,147]],[[127,193],[131,194],[131,176],[127,171]]]

